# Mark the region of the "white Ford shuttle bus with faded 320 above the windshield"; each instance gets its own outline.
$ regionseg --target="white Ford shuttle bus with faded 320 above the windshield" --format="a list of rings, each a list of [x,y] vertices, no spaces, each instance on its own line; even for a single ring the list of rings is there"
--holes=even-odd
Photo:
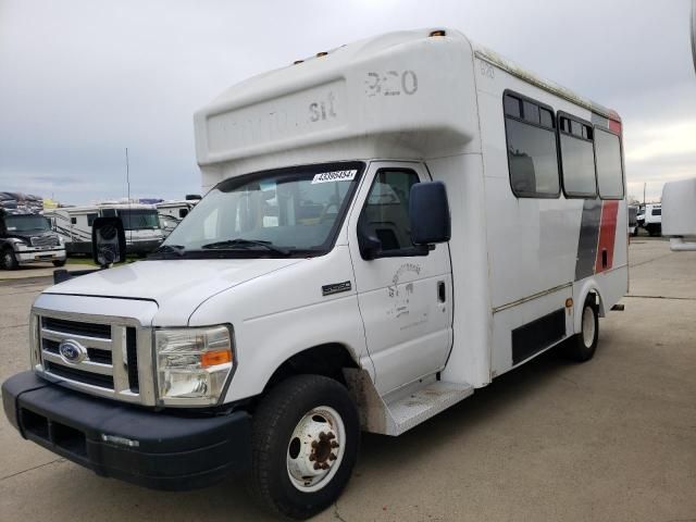
[[[591,359],[626,293],[619,115],[457,30],[299,60],[195,123],[207,196],[149,259],[46,289],[32,372],[3,384],[22,436],[101,475],[248,472],[308,518],[361,430],[557,345]]]

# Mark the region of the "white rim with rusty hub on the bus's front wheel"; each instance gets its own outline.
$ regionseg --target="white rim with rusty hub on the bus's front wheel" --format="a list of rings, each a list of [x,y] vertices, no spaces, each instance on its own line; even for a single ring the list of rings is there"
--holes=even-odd
[[[328,406],[311,409],[300,419],[287,445],[287,474],[303,493],[318,492],[331,482],[344,458],[346,427]]]

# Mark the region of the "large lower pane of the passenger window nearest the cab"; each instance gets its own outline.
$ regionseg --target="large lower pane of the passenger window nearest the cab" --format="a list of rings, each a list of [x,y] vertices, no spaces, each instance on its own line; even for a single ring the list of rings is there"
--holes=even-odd
[[[559,192],[556,134],[507,119],[510,185],[519,197],[549,197]]]

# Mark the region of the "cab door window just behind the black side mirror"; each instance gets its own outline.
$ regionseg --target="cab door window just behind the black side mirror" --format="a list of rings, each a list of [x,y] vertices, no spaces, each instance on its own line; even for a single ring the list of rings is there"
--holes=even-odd
[[[409,198],[417,183],[418,174],[413,171],[384,169],[377,172],[360,214],[360,226],[380,239],[382,251],[413,248]]]

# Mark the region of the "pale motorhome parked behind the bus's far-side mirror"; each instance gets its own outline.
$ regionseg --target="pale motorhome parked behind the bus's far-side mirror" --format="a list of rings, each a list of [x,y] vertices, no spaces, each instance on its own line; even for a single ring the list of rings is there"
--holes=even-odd
[[[103,202],[86,207],[46,210],[54,229],[63,236],[69,254],[91,252],[91,225],[96,217],[119,216],[123,221],[128,252],[153,252],[164,239],[153,204]]]

